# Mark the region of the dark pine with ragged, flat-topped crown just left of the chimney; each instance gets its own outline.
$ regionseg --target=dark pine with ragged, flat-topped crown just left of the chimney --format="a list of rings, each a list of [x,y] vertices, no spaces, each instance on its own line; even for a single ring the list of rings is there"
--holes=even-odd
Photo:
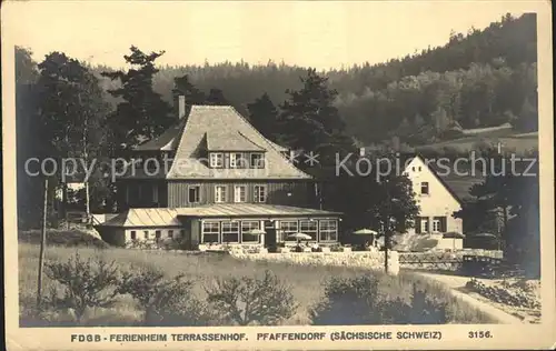
[[[121,88],[109,92],[115,98],[123,99],[110,117],[115,147],[122,149],[129,149],[143,139],[153,139],[175,120],[170,116],[171,108],[152,89],[152,78],[159,71],[155,61],[165,51],[143,53],[137,47],[130,50],[131,54],[123,58],[133,68],[127,72],[102,72],[103,77],[121,82]]]

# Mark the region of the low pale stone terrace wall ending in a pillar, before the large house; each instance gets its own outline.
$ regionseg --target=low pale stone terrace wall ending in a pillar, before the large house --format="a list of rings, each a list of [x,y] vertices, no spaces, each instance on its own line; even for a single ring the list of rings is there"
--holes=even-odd
[[[266,262],[290,262],[301,265],[344,265],[359,267],[373,270],[384,270],[384,252],[282,252],[282,253],[242,253],[230,252],[244,260]],[[388,251],[388,273],[399,272],[398,252]]]

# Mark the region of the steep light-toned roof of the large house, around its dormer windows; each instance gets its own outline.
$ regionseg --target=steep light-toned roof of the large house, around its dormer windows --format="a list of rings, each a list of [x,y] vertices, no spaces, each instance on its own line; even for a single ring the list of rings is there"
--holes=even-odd
[[[226,143],[232,134],[234,142],[244,147],[266,150],[264,169],[211,169],[201,160],[200,151],[214,142]],[[239,138],[241,137],[241,138]],[[208,138],[208,140],[207,140]],[[218,140],[218,141],[216,141]],[[241,141],[238,141],[241,140]],[[235,151],[235,150],[229,150]],[[257,149],[258,151],[258,149]],[[260,134],[236,109],[229,106],[192,106],[187,123],[177,144],[175,162],[168,179],[310,179],[276,149],[276,144]]]

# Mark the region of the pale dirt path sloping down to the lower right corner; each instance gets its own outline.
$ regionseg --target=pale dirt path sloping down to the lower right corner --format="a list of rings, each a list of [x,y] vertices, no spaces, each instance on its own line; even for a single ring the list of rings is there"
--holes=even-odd
[[[476,309],[479,309],[480,311],[487,313],[490,315],[490,318],[495,319],[498,321],[500,324],[522,324],[523,320],[520,318],[517,318],[515,315],[512,315],[496,307],[493,305],[493,303],[486,302],[484,299],[481,299],[478,294],[477,297],[474,297],[469,293],[461,292],[460,290],[465,289],[465,284],[467,281],[469,281],[468,277],[460,277],[460,275],[448,275],[448,274],[437,274],[437,273],[428,273],[428,272],[415,272],[416,274],[435,280],[437,282],[443,283],[447,288],[450,289],[451,293],[470,305],[475,307]]]

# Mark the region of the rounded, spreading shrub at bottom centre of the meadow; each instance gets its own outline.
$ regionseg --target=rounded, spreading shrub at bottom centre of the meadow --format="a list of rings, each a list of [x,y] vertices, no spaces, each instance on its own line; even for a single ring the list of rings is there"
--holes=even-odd
[[[225,322],[274,325],[294,315],[297,305],[290,288],[266,270],[262,279],[242,277],[217,280],[206,288],[208,302]]]

